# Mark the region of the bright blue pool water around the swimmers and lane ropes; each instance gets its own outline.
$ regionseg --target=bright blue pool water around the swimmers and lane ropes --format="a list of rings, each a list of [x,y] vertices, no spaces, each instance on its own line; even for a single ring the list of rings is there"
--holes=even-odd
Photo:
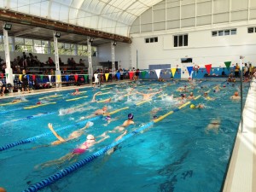
[[[218,93],[212,90],[216,84],[221,84],[221,90]],[[9,192],[22,191],[113,143],[119,133],[109,133],[107,140],[79,155],[78,159],[67,161],[61,165],[36,168],[46,161],[58,159],[71,152],[73,148],[84,143],[87,134],[98,136],[104,131],[121,125],[127,119],[128,113],[134,114],[136,122],[135,125],[127,128],[128,132],[131,132],[147,125],[154,115],[160,117],[179,106],[177,102],[173,102],[166,96],[157,97],[160,95],[154,96],[152,101],[141,105],[136,105],[141,101],[139,95],[125,96],[123,100],[118,101],[119,96],[124,96],[132,85],[126,83],[106,85],[96,89],[79,89],[87,91],[79,96],[71,96],[70,93],[73,90],[26,96],[26,102],[0,106],[2,123],[0,148],[9,143],[49,132],[47,128],[49,122],[53,124],[55,130],[71,125],[70,128],[59,131],[62,137],[67,137],[72,131],[83,127],[83,125],[78,125],[82,116],[90,115],[97,108],[107,105],[108,111],[111,112],[129,107],[111,115],[113,121],[108,125],[106,125],[105,117],[101,116],[93,121],[94,125],[87,129],[82,137],[68,143],[44,147],[44,145],[55,141],[55,137],[49,134],[32,143],[0,151],[2,175],[0,186],[8,189]],[[154,81],[140,82],[133,91],[148,92],[148,87],[152,87],[154,91],[162,88],[163,93],[178,97],[180,92],[177,91],[177,87],[184,85],[188,86],[190,92],[191,87],[187,82],[170,85]],[[104,88],[111,89],[104,90]],[[240,102],[230,100],[230,96],[238,89],[238,84],[231,86],[225,82],[197,83],[195,90],[192,90],[195,96],[200,96],[204,91],[210,90],[209,95],[215,100],[208,101],[200,97],[191,102],[203,103],[206,108],[191,109],[188,105],[175,111],[165,119],[154,123],[149,129],[125,139],[113,154],[104,154],[92,160],[78,171],[63,177],[42,191],[220,191],[240,121]],[[90,103],[91,97],[96,91],[109,92],[96,98],[103,100],[111,96],[112,102]],[[55,96],[55,94],[56,97],[49,97]],[[247,95],[247,87],[243,94]],[[45,96],[48,98],[43,99],[43,102],[55,103],[24,109],[36,105],[39,101],[38,98]],[[88,97],[66,101],[81,96]],[[49,98],[50,101],[48,101]],[[1,104],[11,101],[12,99],[1,100]],[[77,112],[60,115],[61,109],[78,106],[80,107],[77,108]],[[151,113],[155,108],[160,108],[160,111]],[[5,111],[10,112],[4,113]],[[218,131],[206,130],[212,119],[220,120]]]

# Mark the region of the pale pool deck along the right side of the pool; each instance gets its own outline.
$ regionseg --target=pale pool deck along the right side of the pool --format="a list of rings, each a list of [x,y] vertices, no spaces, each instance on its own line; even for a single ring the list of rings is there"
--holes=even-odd
[[[256,79],[251,83],[223,192],[256,191]]]

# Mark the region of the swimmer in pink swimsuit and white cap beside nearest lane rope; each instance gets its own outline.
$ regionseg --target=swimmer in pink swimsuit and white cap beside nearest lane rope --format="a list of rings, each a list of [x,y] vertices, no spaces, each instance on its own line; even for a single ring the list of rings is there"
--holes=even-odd
[[[102,143],[105,139],[107,139],[109,136],[106,135],[106,134],[102,134],[101,136],[99,137],[102,137],[101,140],[97,141],[96,142],[96,138],[93,136],[93,135],[88,135],[86,137],[86,141],[84,143],[82,143],[79,148],[74,148],[73,149],[73,152],[71,153],[68,153],[64,156],[62,156],[60,159],[58,160],[50,160],[44,164],[41,164],[39,165],[40,167],[44,168],[46,166],[54,166],[54,165],[58,165],[58,164],[61,164],[61,163],[64,163],[65,161],[67,160],[72,160],[74,157],[77,157],[79,154],[84,154],[84,152],[86,150],[88,150],[89,148],[91,148],[92,146],[94,146],[95,144],[97,143]],[[38,168],[39,166],[36,166],[35,168]]]

